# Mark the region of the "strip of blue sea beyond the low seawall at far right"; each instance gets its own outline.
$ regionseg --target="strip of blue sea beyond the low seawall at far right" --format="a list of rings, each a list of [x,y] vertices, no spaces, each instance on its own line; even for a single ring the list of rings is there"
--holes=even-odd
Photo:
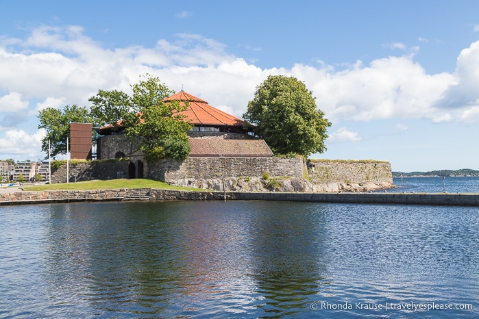
[[[393,178],[397,188],[388,192],[479,193],[479,177],[401,177]]]

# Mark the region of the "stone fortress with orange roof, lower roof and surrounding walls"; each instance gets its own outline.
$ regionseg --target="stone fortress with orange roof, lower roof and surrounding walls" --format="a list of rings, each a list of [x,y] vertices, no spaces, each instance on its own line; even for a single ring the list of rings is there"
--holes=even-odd
[[[111,125],[97,129],[97,159],[69,167],[69,181],[112,178],[151,178],[175,186],[240,192],[365,192],[393,187],[391,165],[382,161],[311,160],[302,157],[275,157],[264,140],[255,138],[252,125],[212,107],[183,90],[164,99],[185,103],[190,155],[182,160],[162,159],[148,163],[138,151],[138,143],[125,138]],[[91,125],[72,123],[82,140],[71,138],[72,159],[91,156],[83,137]],[[81,128],[78,128],[81,127]],[[84,143],[84,144],[82,144]],[[78,146],[82,144],[81,146]],[[79,149],[81,152],[75,152]],[[85,157],[86,154],[86,157]],[[91,157],[90,157],[91,158]],[[106,161],[117,159],[116,162]],[[52,183],[66,180],[66,167],[52,175]],[[271,181],[275,183],[271,183]]]

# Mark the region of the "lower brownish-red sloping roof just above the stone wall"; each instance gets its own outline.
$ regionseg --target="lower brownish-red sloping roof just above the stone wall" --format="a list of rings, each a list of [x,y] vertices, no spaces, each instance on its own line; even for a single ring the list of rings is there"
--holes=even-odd
[[[190,138],[192,157],[270,157],[264,140],[209,140]]]

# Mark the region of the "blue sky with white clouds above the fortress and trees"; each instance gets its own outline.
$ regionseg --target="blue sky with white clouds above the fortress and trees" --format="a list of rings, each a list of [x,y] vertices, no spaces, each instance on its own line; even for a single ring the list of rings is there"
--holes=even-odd
[[[479,170],[479,1],[0,0],[0,159],[44,159],[38,112],[147,73],[242,118],[296,77],[332,126],[311,158]]]

